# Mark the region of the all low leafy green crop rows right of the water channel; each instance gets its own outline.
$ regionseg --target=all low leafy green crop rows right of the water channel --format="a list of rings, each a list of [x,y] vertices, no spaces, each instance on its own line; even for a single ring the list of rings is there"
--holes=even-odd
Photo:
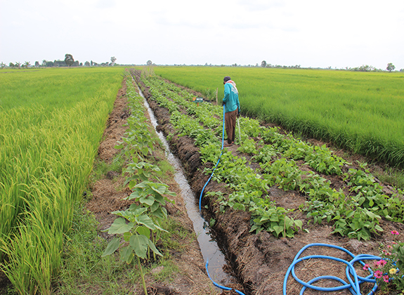
[[[220,155],[221,107],[208,103],[196,107],[189,93],[157,77],[143,81],[150,86],[153,99],[162,106],[169,106],[171,123],[179,135],[194,138],[202,160],[216,163]],[[227,183],[231,191],[228,196],[219,194],[221,208],[232,206],[250,211],[252,231],[267,230],[276,236],[281,233],[292,236],[301,228],[301,221],[295,221],[286,209],[270,201],[268,187],[272,185],[304,192],[308,201],[301,210],[317,223],[332,223],[334,232],[348,237],[369,239],[371,232],[382,230],[378,225],[381,216],[401,221],[404,207],[398,194],[385,195],[382,186],[364,168],[351,168],[342,173],[346,162],[332,155],[325,146],[309,145],[292,134],[283,135],[276,128],[259,126],[254,119],[240,118],[240,125],[239,151],[253,155],[251,161],[258,162],[261,171],[249,168],[245,158],[223,152],[214,179]],[[299,160],[320,174],[341,175],[349,195],[331,188],[330,181],[320,174],[301,171]]]

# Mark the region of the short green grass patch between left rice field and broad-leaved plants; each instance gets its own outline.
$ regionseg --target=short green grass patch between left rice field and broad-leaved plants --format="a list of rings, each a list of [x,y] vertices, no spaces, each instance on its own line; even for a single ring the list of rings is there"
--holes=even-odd
[[[56,294],[129,294],[122,280],[138,277],[135,269],[117,256],[101,258],[107,241],[96,231],[96,218],[77,205],[73,226],[65,242]]]

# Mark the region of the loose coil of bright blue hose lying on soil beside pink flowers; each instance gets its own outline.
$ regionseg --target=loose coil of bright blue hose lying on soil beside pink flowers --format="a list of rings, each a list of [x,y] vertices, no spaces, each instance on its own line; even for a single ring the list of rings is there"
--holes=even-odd
[[[316,246],[339,249],[341,251],[344,251],[346,254],[350,255],[353,259],[351,261],[345,261],[344,259],[341,259],[341,258],[336,258],[336,257],[332,257],[332,256],[323,256],[323,255],[311,255],[311,256],[305,256],[305,257],[299,258],[301,253],[304,250],[306,250],[308,247],[316,247]],[[349,283],[346,283],[344,280],[342,280],[339,277],[334,277],[334,276],[329,276],[329,275],[325,275],[322,277],[315,277],[313,280],[311,280],[309,282],[303,282],[302,280],[300,280],[297,277],[296,273],[294,273],[294,265],[296,265],[297,263],[299,263],[301,261],[308,260],[311,258],[330,259],[333,261],[339,261],[341,263],[345,263],[346,264],[346,277],[347,277],[347,280]],[[297,280],[297,282],[299,282],[300,284],[302,284],[304,286],[301,289],[301,292],[300,292],[301,295],[304,294],[304,291],[306,290],[306,288],[311,288],[311,289],[315,289],[318,291],[340,291],[342,289],[348,289],[349,291],[351,291],[351,294],[353,294],[353,295],[361,295],[360,284],[362,284],[363,282],[374,283],[374,287],[367,294],[367,295],[372,295],[377,290],[376,280],[372,279],[372,277],[373,277],[372,270],[369,268],[371,274],[368,275],[367,277],[360,277],[356,274],[356,270],[355,270],[355,268],[353,268],[353,263],[358,261],[362,265],[365,265],[363,260],[380,260],[380,259],[382,259],[382,258],[379,256],[373,256],[373,255],[367,255],[367,254],[360,254],[358,256],[355,256],[350,251],[344,249],[343,247],[335,246],[332,244],[322,244],[322,243],[308,244],[305,247],[303,247],[299,251],[299,253],[297,253],[297,255],[294,257],[292,264],[287,269],[287,273],[285,275],[285,280],[283,280],[283,295],[287,295],[286,294],[286,285],[287,285],[287,279],[288,279],[290,273],[292,273],[294,280]],[[353,277],[353,280],[352,280],[352,277]],[[341,282],[342,285],[339,287],[330,287],[330,288],[317,287],[317,286],[312,285],[313,282],[317,282],[319,280],[336,280],[338,282]]]

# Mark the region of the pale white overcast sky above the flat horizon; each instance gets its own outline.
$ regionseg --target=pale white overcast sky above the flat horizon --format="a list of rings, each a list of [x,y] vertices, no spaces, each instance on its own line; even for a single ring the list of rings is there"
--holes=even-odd
[[[0,62],[404,68],[404,0],[0,0]]]

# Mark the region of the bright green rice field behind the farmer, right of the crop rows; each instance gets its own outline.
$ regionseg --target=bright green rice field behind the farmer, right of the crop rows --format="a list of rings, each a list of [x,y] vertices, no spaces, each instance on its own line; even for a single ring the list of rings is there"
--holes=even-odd
[[[260,67],[155,67],[156,74],[219,102],[223,77],[242,114],[393,166],[404,166],[404,74]]]

